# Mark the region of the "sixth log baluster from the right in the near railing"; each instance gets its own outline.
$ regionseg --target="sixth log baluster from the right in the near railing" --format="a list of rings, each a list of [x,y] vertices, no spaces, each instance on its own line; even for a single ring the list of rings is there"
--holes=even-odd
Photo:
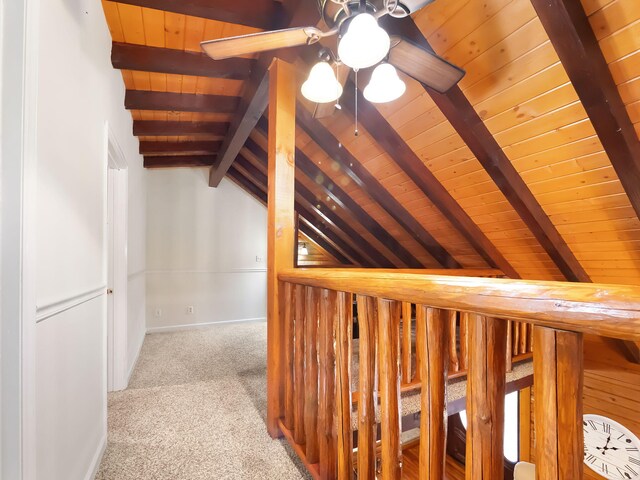
[[[336,298],[336,427],[338,436],[338,478],[353,478],[353,432],[351,430],[351,354],[353,339],[352,295],[339,292]]]

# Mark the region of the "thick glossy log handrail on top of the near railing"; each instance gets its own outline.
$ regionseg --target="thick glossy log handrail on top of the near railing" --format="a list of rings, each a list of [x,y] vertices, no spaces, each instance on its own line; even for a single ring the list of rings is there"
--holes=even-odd
[[[312,287],[525,321],[559,330],[640,340],[640,288],[631,285],[339,268],[286,269],[278,278]]]

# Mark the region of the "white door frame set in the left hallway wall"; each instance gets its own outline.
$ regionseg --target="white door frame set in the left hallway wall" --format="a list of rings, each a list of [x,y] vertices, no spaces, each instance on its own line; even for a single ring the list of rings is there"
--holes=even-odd
[[[124,390],[129,383],[127,369],[127,236],[128,164],[109,124],[105,126],[107,144],[107,391]]]

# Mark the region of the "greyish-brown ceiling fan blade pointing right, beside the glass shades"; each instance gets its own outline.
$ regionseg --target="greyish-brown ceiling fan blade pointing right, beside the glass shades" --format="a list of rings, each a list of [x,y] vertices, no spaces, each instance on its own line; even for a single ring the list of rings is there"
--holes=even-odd
[[[391,45],[389,63],[437,92],[446,92],[466,73],[460,67],[404,38],[391,37]]]

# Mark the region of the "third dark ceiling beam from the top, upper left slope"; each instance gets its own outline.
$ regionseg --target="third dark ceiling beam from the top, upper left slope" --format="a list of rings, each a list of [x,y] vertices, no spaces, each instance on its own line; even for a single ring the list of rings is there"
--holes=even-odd
[[[151,92],[127,90],[124,106],[127,110],[168,110],[175,112],[233,113],[239,97],[200,95],[194,93]]]

